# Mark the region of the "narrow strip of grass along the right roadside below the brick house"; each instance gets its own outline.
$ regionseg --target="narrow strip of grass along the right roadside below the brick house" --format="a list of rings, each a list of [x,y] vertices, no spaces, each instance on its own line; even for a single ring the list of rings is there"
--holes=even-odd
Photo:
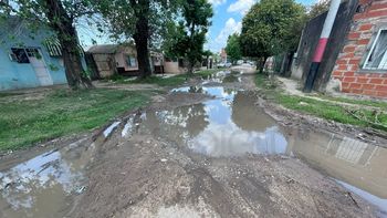
[[[364,120],[358,120],[349,114],[346,108],[339,104],[334,104],[325,101],[313,100],[304,96],[289,95],[282,93],[280,90],[274,89],[269,77],[264,74],[257,74],[255,84],[258,87],[263,90],[264,94],[272,98],[274,103],[281,104],[282,106],[300,111],[305,114],[314,115],[321,118],[335,121],[343,124],[352,124],[362,127],[374,127],[377,129],[387,131],[385,127],[380,125],[373,125],[366,121],[375,122],[375,113],[370,110],[357,110],[357,114],[360,114]],[[338,102],[347,102],[352,104],[359,105],[370,105],[378,106],[381,108],[386,108],[384,102],[372,102],[372,101],[358,101],[358,100],[347,100],[347,98],[338,98],[338,97],[328,97],[324,96],[322,98],[330,98]],[[381,125],[387,126],[387,114],[381,113],[378,115],[378,122]]]

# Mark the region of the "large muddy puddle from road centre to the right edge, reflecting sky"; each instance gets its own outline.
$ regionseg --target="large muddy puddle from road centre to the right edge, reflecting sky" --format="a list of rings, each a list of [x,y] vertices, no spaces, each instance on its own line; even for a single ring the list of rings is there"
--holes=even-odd
[[[205,93],[216,98],[147,112],[143,131],[212,157],[248,153],[296,156],[387,212],[386,148],[333,133],[291,129],[291,135],[285,134],[243,91],[192,86],[172,92]]]

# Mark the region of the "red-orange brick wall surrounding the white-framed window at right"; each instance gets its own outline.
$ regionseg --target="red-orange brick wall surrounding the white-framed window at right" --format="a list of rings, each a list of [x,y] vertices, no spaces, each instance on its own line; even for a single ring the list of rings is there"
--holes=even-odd
[[[387,71],[364,70],[363,64],[380,28],[387,28],[387,0],[360,0],[347,41],[332,77],[345,93],[387,97]]]

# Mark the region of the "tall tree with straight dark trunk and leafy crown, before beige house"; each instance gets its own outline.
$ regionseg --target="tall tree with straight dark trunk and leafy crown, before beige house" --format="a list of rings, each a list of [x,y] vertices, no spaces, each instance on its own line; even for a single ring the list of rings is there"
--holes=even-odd
[[[149,48],[157,39],[180,0],[97,0],[96,7],[106,18],[116,40],[134,40],[142,77],[151,74]]]

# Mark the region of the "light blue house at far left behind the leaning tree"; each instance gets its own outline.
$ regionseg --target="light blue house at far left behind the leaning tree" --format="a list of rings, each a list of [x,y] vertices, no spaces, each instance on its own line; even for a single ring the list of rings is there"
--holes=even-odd
[[[52,31],[24,20],[0,22],[0,91],[66,84],[61,45]]]

